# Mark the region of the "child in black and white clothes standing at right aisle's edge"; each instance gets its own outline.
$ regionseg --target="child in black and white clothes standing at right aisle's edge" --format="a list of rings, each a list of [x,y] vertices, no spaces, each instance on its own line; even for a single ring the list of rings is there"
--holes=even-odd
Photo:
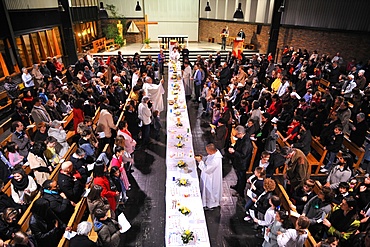
[[[263,181],[265,178],[265,171],[263,167],[256,167],[254,170],[254,175],[250,176],[247,179],[247,196],[246,196],[246,203],[245,203],[245,213],[247,216],[244,217],[245,221],[250,221],[252,218],[249,215],[249,209],[253,205],[253,203],[257,200],[258,196],[263,192]]]

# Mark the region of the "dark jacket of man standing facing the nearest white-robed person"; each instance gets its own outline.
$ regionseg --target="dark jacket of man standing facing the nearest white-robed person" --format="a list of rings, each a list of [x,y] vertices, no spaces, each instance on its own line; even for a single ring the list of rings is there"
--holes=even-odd
[[[238,171],[247,170],[249,165],[250,157],[252,154],[252,143],[248,135],[244,135],[243,138],[238,139],[234,146],[233,156],[233,167]]]

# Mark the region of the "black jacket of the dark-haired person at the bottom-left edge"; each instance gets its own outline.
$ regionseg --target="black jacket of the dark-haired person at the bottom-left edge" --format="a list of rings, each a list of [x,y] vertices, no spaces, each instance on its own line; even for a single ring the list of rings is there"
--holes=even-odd
[[[63,235],[63,230],[55,227],[54,219],[46,221],[35,214],[31,215],[30,229],[39,247],[57,246]]]

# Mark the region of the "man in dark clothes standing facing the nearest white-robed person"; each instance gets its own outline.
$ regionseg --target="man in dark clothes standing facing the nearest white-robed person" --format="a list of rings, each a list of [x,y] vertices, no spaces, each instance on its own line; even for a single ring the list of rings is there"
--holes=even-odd
[[[245,134],[246,131],[243,126],[236,126],[235,130],[235,137],[238,138],[238,140],[234,147],[230,147],[228,149],[228,156],[232,161],[232,165],[238,179],[236,185],[232,185],[230,188],[237,192],[236,194],[233,194],[233,196],[240,196],[243,198],[245,185],[247,183],[246,171],[250,162],[253,147],[249,136]]]

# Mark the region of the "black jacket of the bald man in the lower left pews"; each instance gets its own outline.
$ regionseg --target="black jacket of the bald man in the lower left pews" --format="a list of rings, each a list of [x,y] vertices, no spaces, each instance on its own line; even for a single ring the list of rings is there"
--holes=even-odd
[[[80,180],[74,181],[73,177],[59,173],[58,184],[60,190],[64,192],[69,200],[74,203],[78,203],[81,200],[84,187]]]

